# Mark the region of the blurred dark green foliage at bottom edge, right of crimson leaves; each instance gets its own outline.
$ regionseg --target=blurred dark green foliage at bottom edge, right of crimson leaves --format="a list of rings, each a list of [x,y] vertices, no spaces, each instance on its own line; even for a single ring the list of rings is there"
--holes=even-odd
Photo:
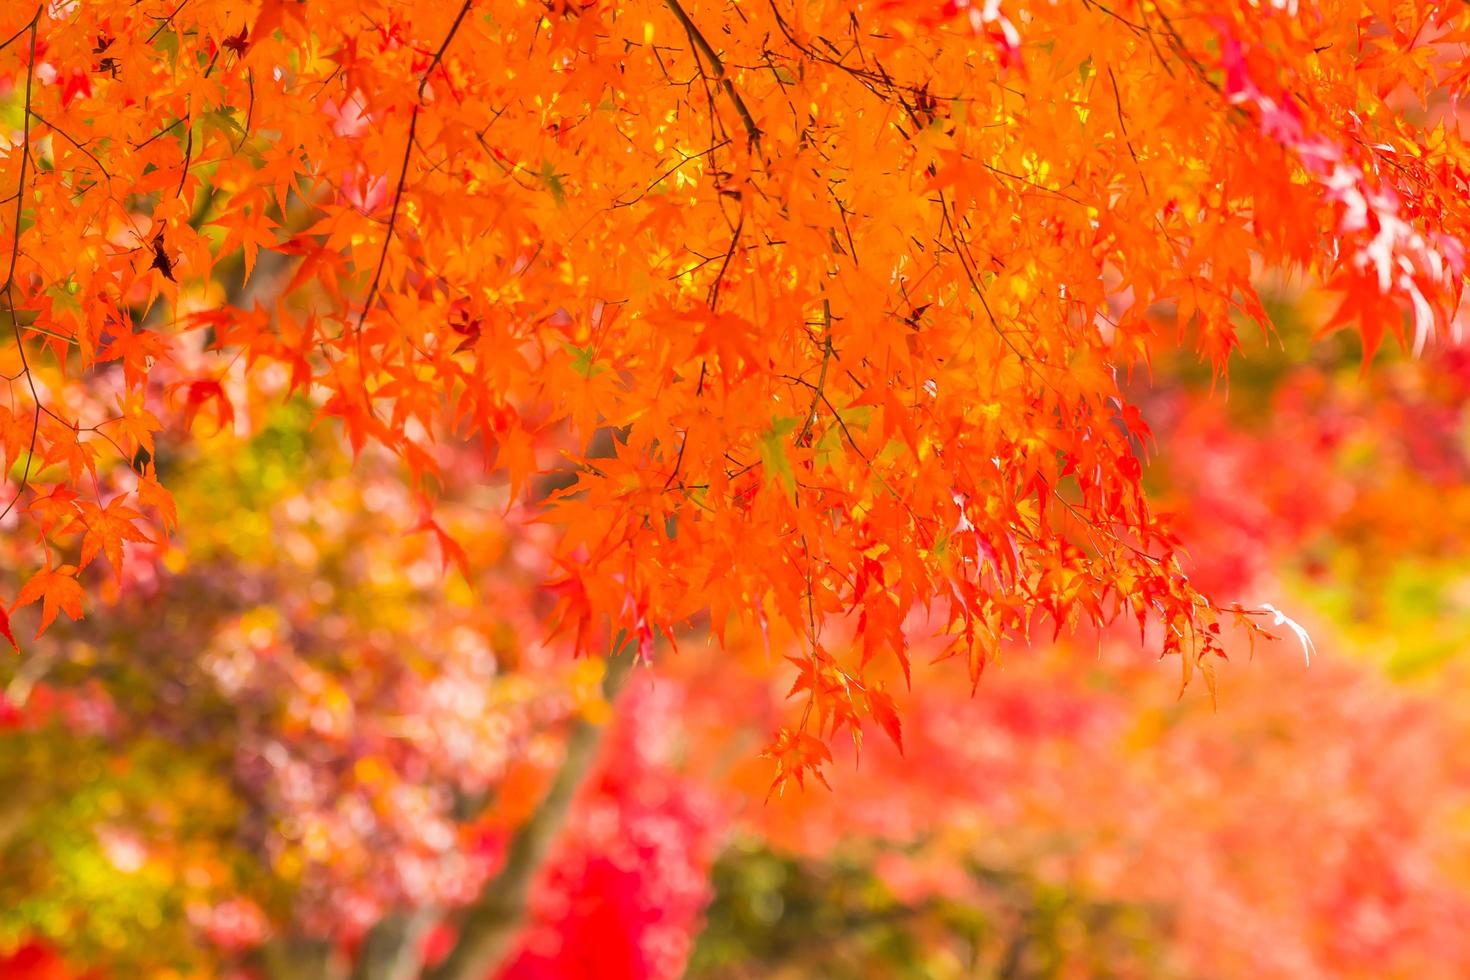
[[[904,901],[875,873],[882,854],[847,848],[814,861],[756,840],[731,848],[713,868],[689,979],[1167,976],[1169,924],[1157,909],[973,861],[963,898]]]

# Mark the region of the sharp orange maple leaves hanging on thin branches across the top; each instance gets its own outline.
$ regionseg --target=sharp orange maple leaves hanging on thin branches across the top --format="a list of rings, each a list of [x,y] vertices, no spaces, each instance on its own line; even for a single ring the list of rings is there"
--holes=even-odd
[[[12,4],[16,601],[78,614],[81,569],[172,522],[160,414],[228,425],[234,378],[419,480],[467,435],[517,491],[564,433],[576,645],[804,635],[778,780],[885,714],[867,667],[907,669],[916,610],[972,680],[1047,620],[1205,658],[1222,610],[1119,379],[1176,332],[1223,370],[1260,266],[1345,292],[1369,350],[1451,322],[1467,156],[1401,107],[1464,93],[1467,28],[1427,0]]]

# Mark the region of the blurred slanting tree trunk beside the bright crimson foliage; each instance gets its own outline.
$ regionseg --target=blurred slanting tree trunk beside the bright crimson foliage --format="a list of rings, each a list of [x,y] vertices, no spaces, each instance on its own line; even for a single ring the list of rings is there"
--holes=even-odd
[[[607,658],[603,676],[603,696],[617,698],[637,652],[635,644],[617,644],[619,652]],[[531,884],[551,849],[553,840],[566,823],[572,798],[587,777],[603,741],[603,726],[579,720],[566,741],[566,755],[551,789],[535,813],[520,824],[510,840],[506,864],[473,904],[457,915],[459,942],[438,967],[426,971],[425,980],[484,980],[506,956],[512,940],[526,917]]]

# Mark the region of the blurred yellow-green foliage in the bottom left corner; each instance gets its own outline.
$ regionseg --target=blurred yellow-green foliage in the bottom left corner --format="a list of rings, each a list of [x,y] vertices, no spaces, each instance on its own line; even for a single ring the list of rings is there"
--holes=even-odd
[[[116,977],[206,968],[188,905],[250,867],[225,771],[154,738],[0,733],[0,951],[43,939]]]

